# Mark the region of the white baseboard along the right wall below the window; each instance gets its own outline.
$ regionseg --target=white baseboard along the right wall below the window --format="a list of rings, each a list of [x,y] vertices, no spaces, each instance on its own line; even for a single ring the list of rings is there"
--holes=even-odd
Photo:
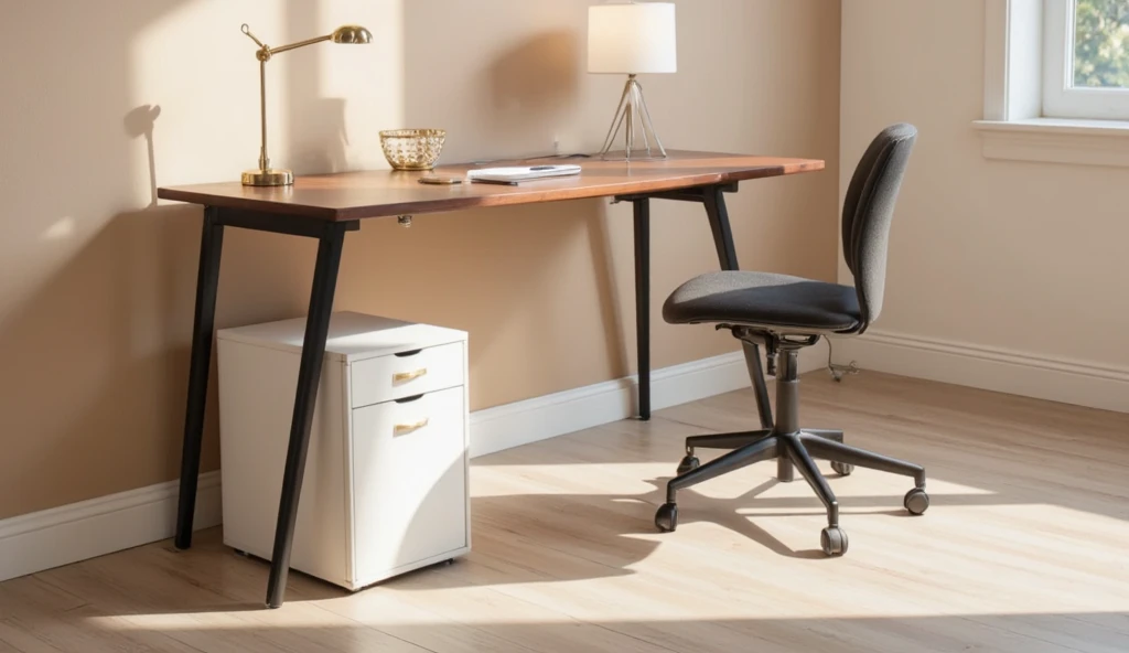
[[[1129,412],[1129,368],[998,347],[873,331],[835,340],[834,362],[886,372]]]

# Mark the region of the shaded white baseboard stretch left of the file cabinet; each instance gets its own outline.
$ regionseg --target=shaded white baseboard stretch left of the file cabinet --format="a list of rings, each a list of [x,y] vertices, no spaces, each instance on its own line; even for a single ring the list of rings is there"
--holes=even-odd
[[[222,520],[219,472],[200,474],[196,529]],[[0,520],[0,581],[173,537],[178,481]]]

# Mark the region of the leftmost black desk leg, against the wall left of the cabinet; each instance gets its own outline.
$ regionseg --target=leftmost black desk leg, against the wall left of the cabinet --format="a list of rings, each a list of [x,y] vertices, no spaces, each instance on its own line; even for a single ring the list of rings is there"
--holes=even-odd
[[[196,273],[196,313],[192,321],[192,362],[189,367],[189,402],[184,413],[184,442],[181,452],[181,494],[176,507],[176,548],[192,546],[192,519],[196,508],[196,480],[200,477],[200,442],[204,432],[204,402],[216,325],[216,291],[219,287],[219,260],[224,249],[224,225],[217,224],[219,209],[204,208],[200,238],[200,270]]]

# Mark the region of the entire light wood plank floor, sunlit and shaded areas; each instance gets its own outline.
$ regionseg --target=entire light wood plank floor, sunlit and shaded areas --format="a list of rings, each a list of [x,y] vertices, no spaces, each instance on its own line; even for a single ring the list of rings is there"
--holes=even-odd
[[[656,533],[681,439],[751,427],[737,392],[474,461],[454,566],[352,595],[295,574],[268,611],[266,565],[205,531],[0,584],[0,650],[1129,651],[1129,416],[874,373],[802,395],[806,426],[925,464],[929,512],[832,478],[850,551],[825,559],[822,506],[761,463]]]

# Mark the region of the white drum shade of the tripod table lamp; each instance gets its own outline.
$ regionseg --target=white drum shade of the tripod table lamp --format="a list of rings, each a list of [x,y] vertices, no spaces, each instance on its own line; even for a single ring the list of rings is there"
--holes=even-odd
[[[673,2],[588,8],[588,72],[677,72]]]

